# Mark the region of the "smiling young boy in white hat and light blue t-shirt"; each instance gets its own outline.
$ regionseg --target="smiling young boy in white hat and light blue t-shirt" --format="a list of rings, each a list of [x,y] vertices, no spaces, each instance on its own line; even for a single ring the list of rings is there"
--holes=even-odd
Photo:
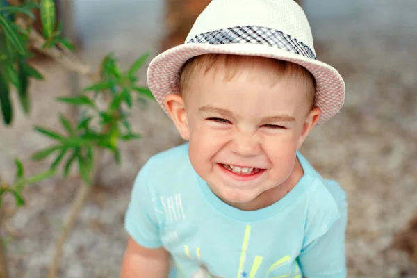
[[[148,83],[188,144],[136,178],[123,278],[346,277],[345,193],[298,152],[345,83],[293,0],[213,0]]]

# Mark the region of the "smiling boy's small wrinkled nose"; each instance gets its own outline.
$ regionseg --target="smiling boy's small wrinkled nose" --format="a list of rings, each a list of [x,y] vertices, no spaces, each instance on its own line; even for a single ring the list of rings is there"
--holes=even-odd
[[[256,134],[236,131],[231,141],[231,152],[240,156],[256,156],[260,151],[261,146]]]

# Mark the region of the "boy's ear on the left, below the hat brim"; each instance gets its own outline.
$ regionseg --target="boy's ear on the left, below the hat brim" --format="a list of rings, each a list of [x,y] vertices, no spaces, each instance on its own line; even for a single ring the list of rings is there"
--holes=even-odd
[[[170,114],[172,121],[177,126],[178,132],[184,140],[190,138],[190,130],[188,129],[188,119],[186,113],[186,105],[179,95],[167,95],[165,98],[165,108]]]

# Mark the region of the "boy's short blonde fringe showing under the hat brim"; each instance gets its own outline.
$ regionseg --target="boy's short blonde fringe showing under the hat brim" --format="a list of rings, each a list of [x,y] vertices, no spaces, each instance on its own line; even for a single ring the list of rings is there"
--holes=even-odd
[[[238,65],[240,63],[256,63],[256,62],[270,63],[276,70],[271,71],[272,80],[279,80],[282,76],[290,74],[304,83],[306,88],[306,103],[309,108],[313,108],[314,96],[316,95],[316,79],[313,74],[306,70],[305,67],[297,65],[295,63],[287,62],[284,60],[276,60],[272,58],[258,57],[258,56],[240,56],[229,54],[204,54],[202,56],[196,56],[190,58],[183,67],[181,67],[179,78],[179,92],[183,97],[186,97],[187,86],[191,80],[195,78],[198,72],[202,72],[203,75],[218,63],[222,63],[226,69],[224,81],[231,81],[236,76],[239,70]],[[272,63],[271,63],[272,62]],[[274,85],[274,84],[271,84]]]

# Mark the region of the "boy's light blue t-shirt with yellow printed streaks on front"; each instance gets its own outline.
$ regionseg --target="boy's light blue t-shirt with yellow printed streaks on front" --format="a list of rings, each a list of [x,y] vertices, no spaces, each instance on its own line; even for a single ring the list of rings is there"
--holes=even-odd
[[[222,202],[190,164],[188,144],[149,159],[133,186],[125,227],[172,254],[175,278],[346,277],[344,191],[297,152],[304,175],[256,211]]]

